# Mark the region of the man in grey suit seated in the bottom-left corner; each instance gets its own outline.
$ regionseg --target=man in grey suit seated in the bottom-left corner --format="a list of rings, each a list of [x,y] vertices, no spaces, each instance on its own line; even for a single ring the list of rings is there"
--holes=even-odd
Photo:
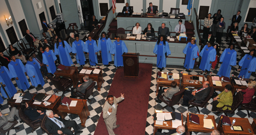
[[[22,120],[19,117],[19,110],[17,108],[15,108],[15,107],[11,108],[11,111],[8,113],[8,115],[2,115],[2,113],[0,112],[0,127],[8,121],[13,121],[14,120],[14,115],[16,115],[18,117],[18,119],[21,123]],[[7,123],[2,129],[3,130],[8,129],[8,128],[11,127],[12,124],[13,123]]]

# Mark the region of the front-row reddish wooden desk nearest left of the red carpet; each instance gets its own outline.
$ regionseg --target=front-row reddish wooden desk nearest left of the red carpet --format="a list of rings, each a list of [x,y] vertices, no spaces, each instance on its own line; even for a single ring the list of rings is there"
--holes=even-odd
[[[73,99],[73,98],[70,98],[70,99],[78,101],[77,106],[69,107],[70,108],[69,110],[67,106],[60,105],[58,107],[60,116],[62,117],[62,119],[64,119],[67,116],[67,113],[77,114],[81,119],[81,126],[85,127],[85,121],[87,117],[90,115],[90,112],[88,110],[87,103],[86,103],[87,100],[83,100],[84,102],[83,103],[81,99]],[[84,106],[85,108],[83,108]]]

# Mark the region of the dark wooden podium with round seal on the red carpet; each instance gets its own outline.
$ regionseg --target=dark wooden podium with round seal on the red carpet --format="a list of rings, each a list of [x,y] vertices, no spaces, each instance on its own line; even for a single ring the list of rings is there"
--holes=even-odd
[[[139,75],[139,53],[124,53],[124,73],[125,77],[138,77]]]

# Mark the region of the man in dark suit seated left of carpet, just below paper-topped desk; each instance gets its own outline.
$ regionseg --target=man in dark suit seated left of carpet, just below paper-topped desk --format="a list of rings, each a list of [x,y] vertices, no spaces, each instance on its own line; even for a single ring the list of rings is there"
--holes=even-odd
[[[92,83],[92,80],[89,79],[89,76],[87,76],[87,75],[85,75],[83,77],[83,80],[85,81],[84,83],[78,82],[77,87],[76,88],[73,87],[71,89],[71,96],[70,96],[70,98],[76,98],[76,96],[74,95],[74,92],[76,92],[77,90],[82,92],[82,93],[85,93],[85,89]]]

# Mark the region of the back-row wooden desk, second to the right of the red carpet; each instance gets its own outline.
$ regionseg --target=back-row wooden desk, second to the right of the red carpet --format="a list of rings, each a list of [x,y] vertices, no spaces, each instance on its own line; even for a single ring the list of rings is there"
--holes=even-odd
[[[196,80],[194,80],[194,83],[189,83],[189,81],[192,80],[192,79],[190,79],[190,77],[192,78],[193,76],[197,76],[197,75],[182,75],[182,82],[181,82],[181,88],[182,89],[184,89],[186,86],[195,87],[195,89],[203,86],[203,83],[205,82],[205,77],[204,76],[197,76],[197,77],[203,77],[202,84],[201,83],[196,84],[195,83]]]

